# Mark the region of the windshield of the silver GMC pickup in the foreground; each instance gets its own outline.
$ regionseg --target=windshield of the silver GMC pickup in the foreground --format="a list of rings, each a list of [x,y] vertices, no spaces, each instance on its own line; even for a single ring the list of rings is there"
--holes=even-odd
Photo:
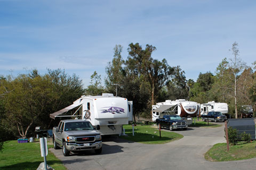
[[[67,122],[64,131],[94,130],[90,122]]]

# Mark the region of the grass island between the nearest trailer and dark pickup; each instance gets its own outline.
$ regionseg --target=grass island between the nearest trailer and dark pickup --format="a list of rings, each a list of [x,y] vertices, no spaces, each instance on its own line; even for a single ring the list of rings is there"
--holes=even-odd
[[[162,138],[159,138],[159,130],[157,128],[152,128],[151,125],[134,126],[134,136],[132,136],[132,125],[124,125],[123,127],[127,136],[121,136],[121,138],[134,142],[163,144],[183,138],[183,135],[181,134],[165,131],[161,131]]]

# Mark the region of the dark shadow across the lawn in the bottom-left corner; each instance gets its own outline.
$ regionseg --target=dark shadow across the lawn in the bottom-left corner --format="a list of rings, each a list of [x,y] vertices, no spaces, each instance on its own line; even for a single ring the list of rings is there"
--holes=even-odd
[[[41,164],[42,162],[23,162],[23,163],[18,163],[18,164],[13,164],[13,165],[8,165],[8,166],[0,166],[1,170],[20,170],[20,169],[37,169],[38,166]],[[53,165],[53,164],[60,164],[60,161],[58,160],[49,160],[47,161],[47,165]]]

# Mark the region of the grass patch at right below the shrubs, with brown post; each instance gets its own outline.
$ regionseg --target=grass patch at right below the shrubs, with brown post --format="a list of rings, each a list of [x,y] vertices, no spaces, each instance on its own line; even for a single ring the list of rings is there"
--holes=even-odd
[[[205,159],[214,162],[243,160],[256,157],[256,141],[251,143],[239,142],[238,145],[229,146],[226,143],[217,143],[205,154]]]

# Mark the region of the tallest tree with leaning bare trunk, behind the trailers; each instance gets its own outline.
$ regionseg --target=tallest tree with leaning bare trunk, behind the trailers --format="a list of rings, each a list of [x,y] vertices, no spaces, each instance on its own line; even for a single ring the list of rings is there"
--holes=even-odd
[[[167,64],[165,59],[160,62],[151,57],[155,50],[156,47],[152,45],[146,45],[146,48],[142,49],[139,43],[131,43],[128,48],[129,56],[126,62],[126,65],[129,64],[129,72],[137,74],[138,77],[150,83],[152,105],[155,104],[159,89],[165,86],[169,75],[173,72],[173,68]]]

